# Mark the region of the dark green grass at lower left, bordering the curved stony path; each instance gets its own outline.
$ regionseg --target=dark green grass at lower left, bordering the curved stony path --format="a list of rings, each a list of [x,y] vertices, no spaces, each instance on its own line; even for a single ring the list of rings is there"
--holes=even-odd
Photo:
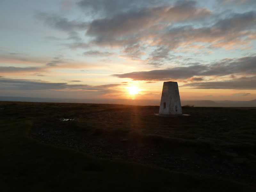
[[[116,107],[123,106],[106,105],[105,109]],[[78,111],[81,113],[81,110],[82,113],[92,110],[82,104],[1,102],[0,108],[4,108],[0,111],[0,185],[4,192],[254,191],[248,184],[212,176],[202,178],[133,162],[100,159],[74,149],[44,144],[28,136],[36,119],[58,116],[58,111],[61,117],[65,117],[61,113],[68,110],[66,116],[70,117],[77,115]],[[101,110],[104,106],[89,105],[88,108]],[[91,121],[85,121],[85,124],[91,129]],[[141,135],[133,131],[129,137],[136,140]]]

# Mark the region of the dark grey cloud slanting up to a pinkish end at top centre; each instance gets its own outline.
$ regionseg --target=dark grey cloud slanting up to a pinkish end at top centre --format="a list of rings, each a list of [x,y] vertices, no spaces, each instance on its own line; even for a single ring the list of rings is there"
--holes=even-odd
[[[96,19],[86,31],[90,36],[121,36],[137,33],[157,22],[190,20],[210,14],[205,8],[196,8],[195,3],[188,1],[174,6],[142,8],[114,15],[111,18]]]

